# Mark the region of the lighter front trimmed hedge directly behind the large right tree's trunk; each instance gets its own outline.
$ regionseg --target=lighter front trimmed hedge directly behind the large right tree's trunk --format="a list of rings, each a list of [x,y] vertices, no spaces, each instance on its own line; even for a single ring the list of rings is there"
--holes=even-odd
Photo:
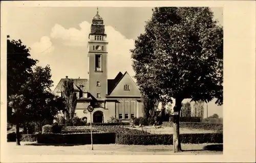
[[[223,143],[222,133],[180,134],[183,144]],[[133,135],[117,134],[116,144],[123,145],[173,145],[173,134]]]

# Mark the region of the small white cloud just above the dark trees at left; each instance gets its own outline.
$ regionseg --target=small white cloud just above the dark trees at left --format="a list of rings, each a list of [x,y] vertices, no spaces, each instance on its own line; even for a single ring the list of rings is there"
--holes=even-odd
[[[47,54],[54,50],[51,39],[48,36],[41,37],[39,42],[35,42],[31,45],[31,53],[33,55]]]

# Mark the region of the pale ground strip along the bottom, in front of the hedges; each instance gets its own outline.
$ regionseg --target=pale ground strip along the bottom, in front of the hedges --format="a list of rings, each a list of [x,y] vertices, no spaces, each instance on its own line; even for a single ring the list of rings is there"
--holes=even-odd
[[[14,142],[7,143],[9,156],[17,154],[39,154],[39,155],[54,155],[54,154],[68,154],[68,155],[92,155],[92,154],[222,154],[222,144],[182,144],[181,148],[184,150],[180,153],[173,153],[172,145],[94,145],[94,150],[91,150],[91,145],[41,145],[31,142],[20,142],[21,146],[16,146]]]

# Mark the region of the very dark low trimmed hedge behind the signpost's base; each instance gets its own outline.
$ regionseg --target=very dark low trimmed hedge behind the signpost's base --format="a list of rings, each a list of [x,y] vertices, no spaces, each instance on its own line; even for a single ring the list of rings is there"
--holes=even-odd
[[[37,143],[42,144],[91,144],[90,133],[38,134]],[[115,133],[93,133],[94,144],[115,144]]]

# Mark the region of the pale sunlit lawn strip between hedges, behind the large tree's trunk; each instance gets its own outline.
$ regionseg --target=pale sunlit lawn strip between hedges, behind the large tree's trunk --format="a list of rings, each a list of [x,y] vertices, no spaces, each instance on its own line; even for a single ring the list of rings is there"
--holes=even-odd
[[[135,128],[127,127],[130,129],[137,129],[142,130],[141,127],[135,126]],[[153,126],[144,126],[144,131],[150,132],[150,133],[156,133],[156,134],[172,134],[173,133],[173,127],[161,127],[161,128],[155,128]],[[203,129],[188,129],[188,128],[180,128],[180,133],[215,133],[214,130],[203,130]]]

